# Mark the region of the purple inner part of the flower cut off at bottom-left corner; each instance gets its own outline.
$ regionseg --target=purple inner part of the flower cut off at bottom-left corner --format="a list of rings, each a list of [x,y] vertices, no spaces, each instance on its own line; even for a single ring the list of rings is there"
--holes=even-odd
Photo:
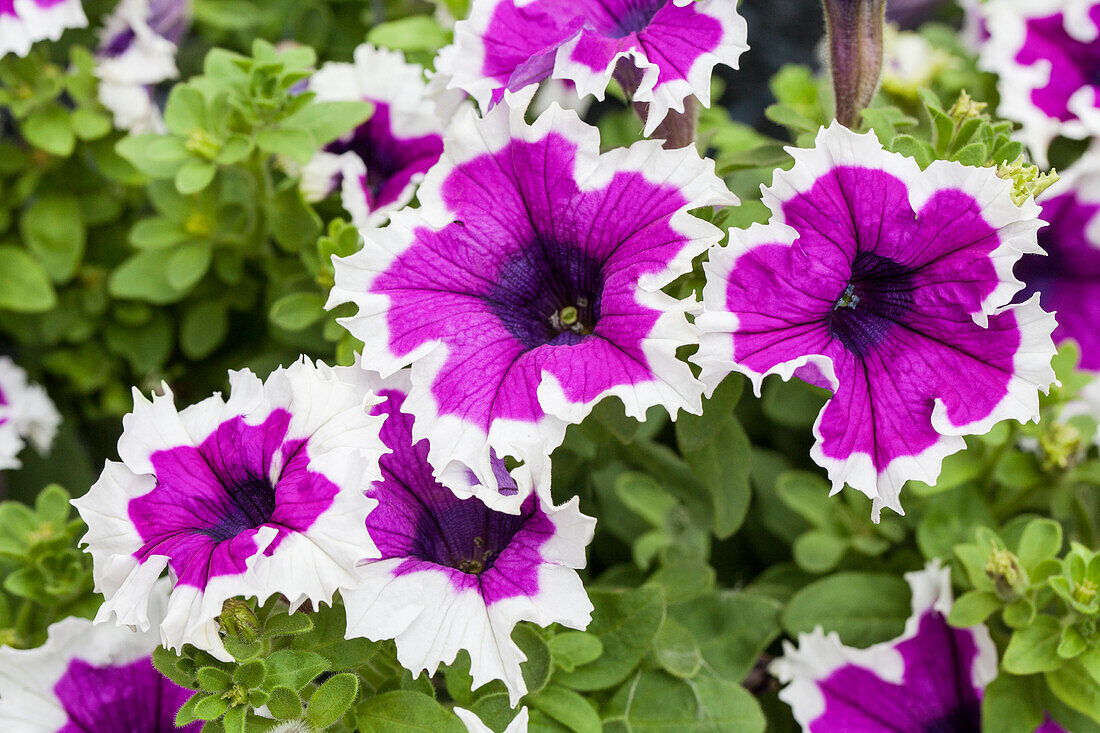
[[[69,719],[58,733],[197,733],[202,727],[201,722],[176,727],[176,712],[191,691],[162,676],[150,657],[108,667],[74,659],[54,694]]]

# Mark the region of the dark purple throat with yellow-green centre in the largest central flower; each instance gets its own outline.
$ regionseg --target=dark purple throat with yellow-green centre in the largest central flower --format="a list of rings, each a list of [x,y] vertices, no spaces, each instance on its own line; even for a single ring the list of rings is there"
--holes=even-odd
[[[537,241],[501,269],[484,297],[507,331],[528,349],[566,346],[595,330],[603,281],[596,259],[569,244]]]

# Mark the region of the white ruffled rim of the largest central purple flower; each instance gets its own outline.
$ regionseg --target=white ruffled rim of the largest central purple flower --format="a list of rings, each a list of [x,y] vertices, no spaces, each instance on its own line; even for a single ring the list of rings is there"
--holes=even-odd
[[[388,376],[413,365],[413,391],[406,407],[416,418],[414,437],[427,438],[431,445],[429,460],[437,472],[455,461],[473,470],[481,484],[494,491],[499,484],[493,473],[491,450],[501,458],[510,456],[524,462],[539,462],[561,445],[565,428],[581,422],[604,397],[618,396],[626,413],[637,419],[645,419],[646,411],[653,405],[664,406],[673,416],[681,408],[694,414],[702,411],[702,387],[688,365],[675,357],[678,347],[697,341],[695,329],[685,316],[695,304],[675,300],[660,288],[690,272],[692,260],[722,239],[722,231],[693,217],[689,210],[738,203],[715,175],[714,161],[701,158],[691,147],[664,150],[658,141],[640,141],[628,149],[601,155],[598,131],[582,122],[574,111],[557,105],[551,105],[528,125],[524,114],[532,92],[534,87],[526,95],[506,94],[504,102],[483,119],[472,109],[459,114],[444,138],[443,156],[420,186],[420,208],[398,211],[385,228],[363,230],[366,244],[360,252],[333,259],[336,285],[326,305],[330,309],[342,303],[354,303],[359,307],[356,315],[341,318],[339,322],[363,341],[363,363],[371,369]],[[640,304],[661,311],[651,333],[642,341],[653,380],[616,385],[590,402],[574,403],[565,397],[557,380],[544,373],[537,396],[546,416],[537,423],[496,419],[486,434],[460,417],[439,414],[431,385],[447,362],[446,344],[426,342],[404,355],[391,351],[389,298],[370,289],[374,281],[416,243],[415,230],[439,230],[455,220],[440,192],[443,182],[457,168],[503,150],[513,140],[535,142],[551,133],[576,145],[573,178],[581,192],[606,186],[619,172],[637,172],[652,184],[676,187],[688,203],[671,217],[670,225],[683,236],[685,244],[663,271],[641,278],[636,289]],[[537,473],[538,469],[535,471]],[[520,484],[527,483],[518,475],[514,478]]]

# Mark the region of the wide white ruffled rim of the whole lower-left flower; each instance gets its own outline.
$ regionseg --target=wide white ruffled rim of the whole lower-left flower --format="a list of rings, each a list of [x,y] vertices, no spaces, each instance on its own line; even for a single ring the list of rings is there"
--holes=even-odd
[[[340,491],[332,505],[304,533],[292,533],[270,557],[263,550],[276,529],[256,534],[256,554],[241,575],[210,579],[205,589],[177,586],[161,625],[162,642],[179,650],[194,644],[219,659],[230,660],[218,635],[216,617],[230,598],[254,597],[264,602],[279,593],[296,605],[331,603],[339,589],[359,583],[356,564],[377,557],[364,521],[376,502],[365,495],[381,478],[378,458],[388,452],[378,431],[383,418],[369,414],[377,397],[363,392],[348,368],[330,368],[302,358],[276,370],[266,382],[244,370],[230,372],[231,394],[220,394],[176,411],[167,385],[152,402],[134,391],[134,412],[123,418],[119,455],[108,461],[89,492],[73,504],[88,525],[81,540],[92,556],[96,590],[103,593],[96,621],[112,616],[119,625],[150,628],[148,594],[167,567],[168,558],[152,556],[144,564],[133,557],[143,545],[130,521],[130,501],[156,488],[153,453],[179,446],[198,446],[222,423],[243,416],[250,425],[263,423],[275,409],[290,413],[286,440],[309,438],[310,470],[320,472]],[[271,467],[277,477],[282,466]]]

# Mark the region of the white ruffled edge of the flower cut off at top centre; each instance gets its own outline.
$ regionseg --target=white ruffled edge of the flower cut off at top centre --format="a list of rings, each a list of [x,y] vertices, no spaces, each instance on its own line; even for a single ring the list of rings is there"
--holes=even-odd
[[[496,79],[482,74],[485,65],[485,44],[482,39],[488,33],[493,14],[502,0],[474,2],[470,17],[459,21],[454,26],[454,48],[441,55],[439,68],[450,75],[450,88],[461,88],[477,100],[482,110],[491,106],[493,92],[499,86]],[[503,0],[512,1],[512,0]],[[516,4],[526,4],[517,2]],[[692,4],[695,12],[707,15],[722,26],[722,42],[716,48],[700,54],[693,59],[691,67],[684,74],[685,78],[658,83],[660,67],[648,58],[640,47],[629,48],[618,53],[603,69],[573,61],[573,51],[581,41],[581,33],[563,43],[554,53],[553,79],[572,81],[579,98],[593,96],[604,99],[607,85],[610,84],[615,67],[620,59],[631,62],[641,74],[634,100],[647,102],[649,113],[646,118],[644,134],[649,136],[664,120],[669,110],[684,111],[684,100],[694,95],[704,107],[711,106],[711,76],[714,67],[725,64],[738,68],[740,55],[748,51],[748,24],[737,12],[736,3],[728,0],[697,0],[695,2],[676,0],[676,6]]]

